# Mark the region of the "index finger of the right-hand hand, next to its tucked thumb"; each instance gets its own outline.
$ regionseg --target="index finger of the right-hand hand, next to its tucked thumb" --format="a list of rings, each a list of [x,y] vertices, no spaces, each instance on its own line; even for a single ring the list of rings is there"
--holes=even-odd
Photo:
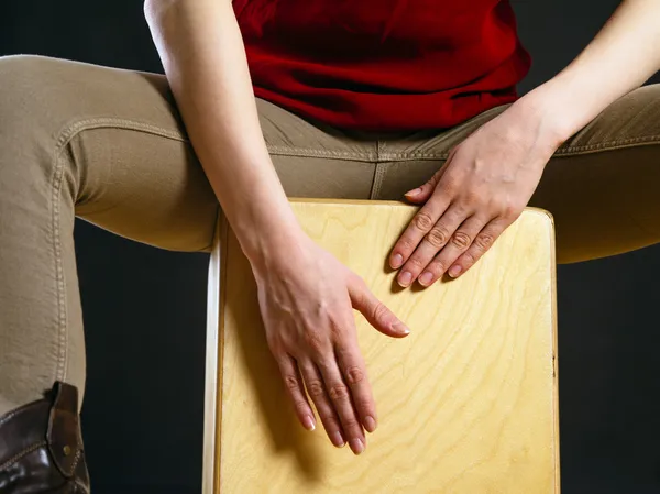
[[[436,189],[428,202],[417,211],[389,255],[389,265],[394,270],[399,268],[408,261],[408,257],[417,249],[421,239],[424,239],[444,213],[450,205],[450,200],[451,196]]]

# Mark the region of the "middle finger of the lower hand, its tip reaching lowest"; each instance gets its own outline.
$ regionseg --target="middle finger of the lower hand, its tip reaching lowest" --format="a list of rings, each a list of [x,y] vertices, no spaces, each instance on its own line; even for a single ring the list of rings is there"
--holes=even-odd
[[[333,355],[333,359],[317,362],[317,366],[321,371],[328,396],[341,421],[344,438],[355,454],[362,453],[366,447],[364,430],[351,399],[351,389],[341,375],[337,359]]]

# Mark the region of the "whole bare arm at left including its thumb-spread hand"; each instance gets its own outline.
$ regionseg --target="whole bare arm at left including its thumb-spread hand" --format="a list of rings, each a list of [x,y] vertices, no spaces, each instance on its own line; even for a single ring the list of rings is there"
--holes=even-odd
[[[300,229],[262,135],[231,2],[146,0],[145,14],[195,152],[252,265],[298,419],[315,428],[307,387],[332,443],[359,454],[376,410],[352,308],[385,334],[407,329]]]

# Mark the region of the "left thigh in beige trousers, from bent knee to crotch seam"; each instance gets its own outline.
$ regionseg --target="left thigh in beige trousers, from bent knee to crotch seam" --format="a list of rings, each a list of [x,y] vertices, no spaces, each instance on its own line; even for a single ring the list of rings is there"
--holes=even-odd
[[[163,249],[210,249],[218,201],[164,76],[45,57],[8,62],[29,106],[25,120],[43,130],[33,133],[59,163],[77,217]],[[263,100],[257,110],[287,195],[370,197],[374,141]]]

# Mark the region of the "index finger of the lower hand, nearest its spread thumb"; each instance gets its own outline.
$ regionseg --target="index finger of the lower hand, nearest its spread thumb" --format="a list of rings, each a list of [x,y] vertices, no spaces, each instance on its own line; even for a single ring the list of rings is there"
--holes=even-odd
[[[366,365],[355,338],[345,338],[334,349],[339,367],[351,388],[351,396],[362,426],[369,431],[376,430],[376,403],[369,382]]]

